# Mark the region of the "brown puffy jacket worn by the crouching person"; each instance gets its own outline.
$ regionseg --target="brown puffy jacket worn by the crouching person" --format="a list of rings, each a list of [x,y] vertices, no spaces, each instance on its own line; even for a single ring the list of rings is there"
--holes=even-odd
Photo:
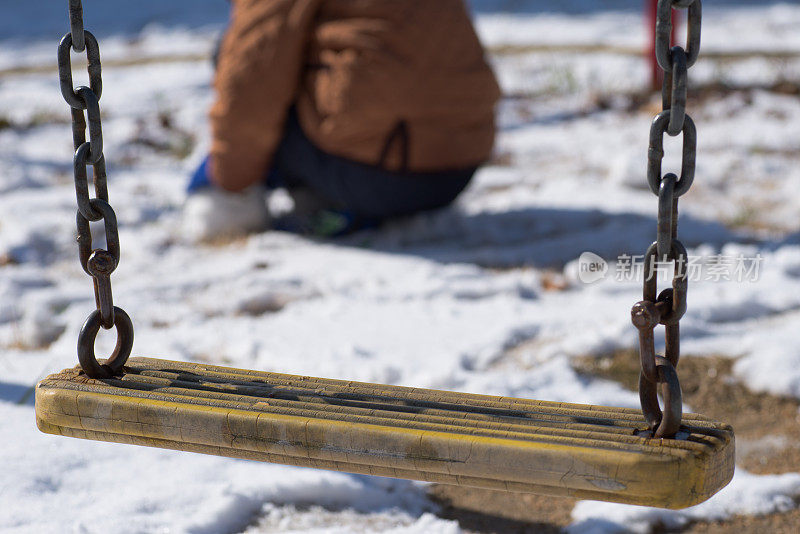
[[[499,89],[463,0],[233,4],[210,114],[221,187],[263,180],[293,105],[316,146],[361,163],[437,171],[488,159]]]

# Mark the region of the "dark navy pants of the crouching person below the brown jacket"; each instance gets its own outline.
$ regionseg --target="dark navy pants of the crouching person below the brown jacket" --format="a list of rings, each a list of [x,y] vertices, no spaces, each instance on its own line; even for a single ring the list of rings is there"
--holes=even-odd
[[[267,186],[290,191],[307,187],[334,209],[385,219],[450,204],[467,187],[475,170],[389,171],[327,154],[309,141],[291,113]]]

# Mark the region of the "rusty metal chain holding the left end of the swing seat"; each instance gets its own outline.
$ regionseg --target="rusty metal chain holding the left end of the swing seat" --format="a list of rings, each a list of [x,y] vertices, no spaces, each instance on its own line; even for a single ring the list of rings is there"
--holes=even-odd
[[[119,265],[119,232],[117,217],[108,201],[106,164],[103,157],[103,130],[100,121],[100,96],[103,80],[100,68],[100,48],[97,39],[83,29],[81,0],[69,0],[70,32],[58,45],[58,77],[61,95],[72,113],[72,141],[75,148],[73,172],[78,199],[78,255],[86,274],[92,277],[97,309],[81,328],[78,336],[78,361],[91,378],[109,378],[119,374],[133,347],[133,324],[124,310],[114,306],[111,273]],[[86,52],[89,87],[74,88],[70,51]],[[84,113],[85,112],[85,113]],[[86,127],[89,141],[86,141]],[[92,166],[95,197],[89,196],[87,165]],[[106,248],[93,248],[90,221],[103,221]],[[117,346],[105,364],[100,364],[94,344],[100,328],[117,329]]]

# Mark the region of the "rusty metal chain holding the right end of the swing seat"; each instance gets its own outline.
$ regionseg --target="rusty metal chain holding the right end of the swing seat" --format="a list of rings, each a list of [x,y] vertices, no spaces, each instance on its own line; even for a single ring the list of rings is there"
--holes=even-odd
[[[687,43],[670,47],[672,10],[689,10]],[[647,157],[647,182],[658,197],[658,231],[656,241],[644,256],[644,291],[641,302],[631,310],[634,326],[639,330],[639,400],[642,412],[654,438],[672,438],[681,426],[681,385],[675,368],[680,358],[680,320],[686,313],[688,258],[678,237],[678,198],[694,180],[697,130],[686,114],[687,72],[700,52],[701,0],[659,0],[656,18],[656,59],[664,71],[661,91],[663,111],[650,127],[650,148]],[[662,176],[664,134],[672,137],[683,133],[681,175]],[[672,262],[675,274],[672,287],[658,291],[658,262]],[[665,354],[657,356],[653,331],[666,327]],[[658,390],[664,398],[664,411],[658,404]]]

